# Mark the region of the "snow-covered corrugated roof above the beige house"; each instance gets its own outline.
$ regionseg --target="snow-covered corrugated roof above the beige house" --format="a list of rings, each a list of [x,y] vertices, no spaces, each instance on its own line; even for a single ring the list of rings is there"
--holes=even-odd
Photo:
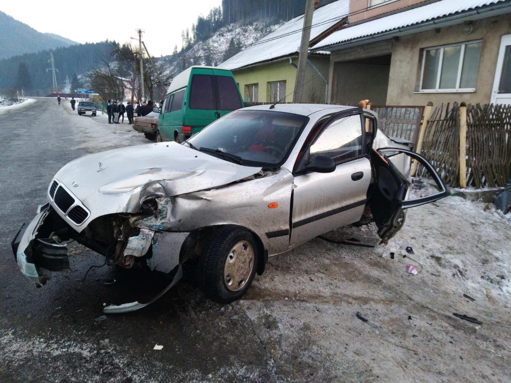
[[[324,38],[312,49],[326,48],[342,42],[361,37],[378,35],[380,33],[398,30],[399,28],[420,25],[423,22],[454,15],[472,9],[502,3],[506,0],[441,0],[423,7],[394,13],[376,20],[363,22],[353,27],[346,27]]]

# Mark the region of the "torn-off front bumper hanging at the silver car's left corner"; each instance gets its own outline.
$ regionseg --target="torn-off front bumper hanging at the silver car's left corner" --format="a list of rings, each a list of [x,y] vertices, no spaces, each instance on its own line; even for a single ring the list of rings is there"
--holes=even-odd
[[[49,203],[39,206],[32,222],[21,226],[11,242],[19,270],[38,286],[44,285],[53,271],[69,271],[66,245],[51,236],[52,224],[47,222],[51,213]]]

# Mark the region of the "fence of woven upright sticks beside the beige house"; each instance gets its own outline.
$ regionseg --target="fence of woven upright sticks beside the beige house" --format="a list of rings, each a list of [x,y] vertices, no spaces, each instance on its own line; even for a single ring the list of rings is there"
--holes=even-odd
[[[461,148],[466,148],[466,185],[504,186],[511,177],[511,106],[468,105],[466,145],[460,148],[460,106],[437,106],[424,131],[421,154],[442,176],[446,184],[460,186]],[[461,161],[462,163],[463,161]],[[417,175],[424,175],[419,166]],[[461,173],[463,175],[463,173]]]

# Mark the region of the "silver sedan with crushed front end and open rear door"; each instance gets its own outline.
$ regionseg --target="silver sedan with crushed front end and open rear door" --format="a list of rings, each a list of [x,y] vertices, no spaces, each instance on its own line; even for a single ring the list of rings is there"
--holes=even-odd
[[[436,194],[409,198],[410,157],[428,170]],[[269,256],[356,223],[375,222],[386,243],[406,208],[446,196],[428,161],[409,142],[383,134],[370,110],[262,105],[234,111],[182,144],[69,162],[12,248],[20,271],[37,285],[69,270],[66,245],[74,240],[110,266],[170,274],[172,283],[155,299],[188,271],[207,296],[226,303],[246,292]]]

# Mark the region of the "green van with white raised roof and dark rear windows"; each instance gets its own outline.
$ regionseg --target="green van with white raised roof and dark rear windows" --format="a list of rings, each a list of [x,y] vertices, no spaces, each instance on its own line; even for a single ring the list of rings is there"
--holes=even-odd
[[[161,106],[156,141],[183,142],[223,115],[243,108],[230,70],[191,66],[170,84]]]

